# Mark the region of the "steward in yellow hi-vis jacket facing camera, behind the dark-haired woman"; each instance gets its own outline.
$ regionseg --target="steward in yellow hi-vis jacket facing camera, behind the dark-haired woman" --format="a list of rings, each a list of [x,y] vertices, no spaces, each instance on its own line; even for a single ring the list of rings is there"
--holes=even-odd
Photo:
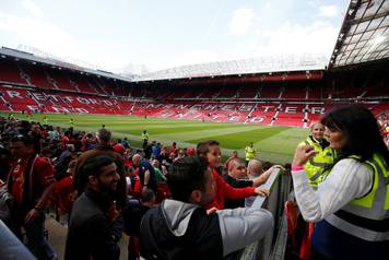
[[[299,145],[311,145],[317,152],[304,165],[309,184],[317,188],[318,184],[326,178],[326,173],[329,173],[326,168],[331,166],[335,158],[335,152],[325,139],[325,126],[320,122],[314,122],[310,126],[310,135]]]

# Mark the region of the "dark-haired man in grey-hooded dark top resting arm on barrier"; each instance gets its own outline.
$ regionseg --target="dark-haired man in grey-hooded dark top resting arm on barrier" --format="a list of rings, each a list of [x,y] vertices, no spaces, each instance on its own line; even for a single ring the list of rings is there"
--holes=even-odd
[[[173,199],[151,209],[141,223],[141,256],[148,260],[223,259],[272,228],[273,216],[263,209],[207,212],[214,186],[205,158],[176,161],[167,184]]]

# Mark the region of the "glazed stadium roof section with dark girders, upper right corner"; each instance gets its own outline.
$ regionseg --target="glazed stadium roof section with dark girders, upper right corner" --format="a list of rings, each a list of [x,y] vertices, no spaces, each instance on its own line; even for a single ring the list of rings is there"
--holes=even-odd
[[[389,58],[388,28],[388,0],[352,0],[329,68]]]

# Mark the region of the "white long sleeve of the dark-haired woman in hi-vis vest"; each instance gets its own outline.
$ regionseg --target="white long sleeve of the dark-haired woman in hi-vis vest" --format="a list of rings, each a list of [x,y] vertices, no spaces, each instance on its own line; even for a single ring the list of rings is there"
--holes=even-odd
[[[339,161],[317,190],[309,185],[304,169],[292,172],[292,177],[298,208],[307,222],[326,218],[366,194],[373,185],[372,169],[353,158]]]

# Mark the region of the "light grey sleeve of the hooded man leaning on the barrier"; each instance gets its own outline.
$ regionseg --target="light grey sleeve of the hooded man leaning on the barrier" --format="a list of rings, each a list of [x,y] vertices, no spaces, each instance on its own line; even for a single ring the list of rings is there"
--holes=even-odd
[[[273,227],[273,215],[264,209],[238,208],[217,211],[223,256],[263,238]]]

